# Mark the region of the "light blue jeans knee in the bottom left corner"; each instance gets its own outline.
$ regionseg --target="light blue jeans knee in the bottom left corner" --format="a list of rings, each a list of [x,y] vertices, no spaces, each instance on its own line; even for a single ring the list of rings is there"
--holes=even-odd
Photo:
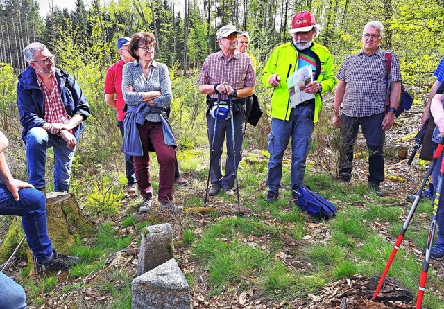
[[[0,272],[0,309],[26,309],[26,295],[22,285]]]

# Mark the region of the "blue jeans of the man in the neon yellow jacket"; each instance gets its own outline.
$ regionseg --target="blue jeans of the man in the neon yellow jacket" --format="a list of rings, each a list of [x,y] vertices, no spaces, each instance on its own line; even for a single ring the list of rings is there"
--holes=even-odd
[[[305,161],[310,151],[313,123],[313,105],[298,105],[291,109],[288,121],[271,119],[271,133],[268,135],[268,175],[266,186],[278,192],[282,179],[282,159],[291,137],[291,188],[302,184],[305,175]]]

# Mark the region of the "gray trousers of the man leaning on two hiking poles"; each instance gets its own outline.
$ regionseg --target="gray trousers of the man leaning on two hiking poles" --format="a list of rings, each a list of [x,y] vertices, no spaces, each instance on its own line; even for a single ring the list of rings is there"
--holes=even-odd
[[[241,109],[240,112],[234,114],[233,118],[234,150],[236,152],[235,157],[233,155],[231,119],[217,121],[214,145],[212,145],[215,119],[210,115],[210,113],[207,113],[207,134],[208,141],[210,143],[211,158],[210,180],[212,186],[219,186],[219,188],[224,189],[232,188],[234,185],[234,180],[236,180],[235,172],[239,162],[241,161],[242,142],[244,141],[245,133],[244,109]],[[225,161],[225,175],[222,177],[221,157],[225,133],[227,137],[227,159]]]

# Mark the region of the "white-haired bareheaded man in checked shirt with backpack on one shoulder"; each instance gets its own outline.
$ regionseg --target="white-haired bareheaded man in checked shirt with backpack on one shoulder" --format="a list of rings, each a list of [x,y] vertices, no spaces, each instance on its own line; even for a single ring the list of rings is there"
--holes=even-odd
[[[385,132],[394,121],[401,94],[401,71],[398,56],[391,58],[391,78],[388,80],[384,51],[379,47],[383,26],[370,21],[362,33],[362,49],[349,55],[336,75],[338,86],[334,94],[333,124],[341,127],[343,143],[339,157],[338,180],[350,182],[352,177],[353,146],[359,125],[366,139],[368,156],[368,184],[383,196],[379,184],[384,181]],[[385,113],[387,83],[391,82],[390,108]],[[342,115],[339,107],[343,104]]]

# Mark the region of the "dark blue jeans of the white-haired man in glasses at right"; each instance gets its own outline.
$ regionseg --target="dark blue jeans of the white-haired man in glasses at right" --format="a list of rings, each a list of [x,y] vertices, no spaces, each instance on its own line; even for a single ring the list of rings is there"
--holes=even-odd
[[[384,142],[386,134],[381,130],[385,113],[366,117],[341,116],[341,136],[343,144],[339,153],[339,177],[350,180],[353,170],[353,148],[358,135],[359,125],[366,139],[368,148],[368,182],[379,184],[384,182]]]

